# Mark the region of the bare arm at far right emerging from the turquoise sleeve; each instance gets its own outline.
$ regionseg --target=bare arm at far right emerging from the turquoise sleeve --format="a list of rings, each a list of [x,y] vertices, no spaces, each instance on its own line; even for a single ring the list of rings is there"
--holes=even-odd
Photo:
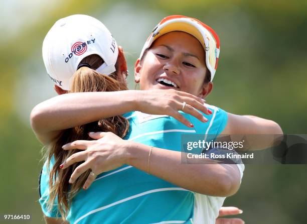
[[[227,125],[221,135],[231,135],[233,141],[245,138],[251,150],[266,149],[272,146],[278,135],[283,134],[280,126],[273,121],[250,115],[227,115]]]

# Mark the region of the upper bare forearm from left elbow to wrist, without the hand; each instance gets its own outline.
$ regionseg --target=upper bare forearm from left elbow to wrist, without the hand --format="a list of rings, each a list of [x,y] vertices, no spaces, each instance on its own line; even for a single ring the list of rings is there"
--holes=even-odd
[[[129,93],[125,97],[123,91],[58,95],[33,108],[32,128],[38,139],[48,144],[61,130],[133,110],[132,94]]]

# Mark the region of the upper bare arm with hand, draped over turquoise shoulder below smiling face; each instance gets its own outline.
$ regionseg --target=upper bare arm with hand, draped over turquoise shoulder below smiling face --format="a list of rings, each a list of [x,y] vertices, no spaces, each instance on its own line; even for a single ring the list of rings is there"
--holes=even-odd
[[[192,94],[169,90],[124,90],[115,92],[79,92],[62,94],[34,107],[31,125],[38,139],[50,143],[61,130],[84,125],[138,110],[146,114],[169,115],[186,126],[190,122],[178,110],[187,102],[185,112],[202,122],[207,119],[197,109],[209,115],[204,101]]]

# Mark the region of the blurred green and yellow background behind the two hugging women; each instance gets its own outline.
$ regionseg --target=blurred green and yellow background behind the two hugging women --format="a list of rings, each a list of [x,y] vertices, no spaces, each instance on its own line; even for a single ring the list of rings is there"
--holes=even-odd
[[[93,16],[109,28],[126,52],[130,88],[133,63],[162,18],[179,14],[205,22],[221,39],[208,103],[274,120],[285,134],[307,134],[307,1],[12,0],[1,6],[1,214],[31,214],[31,223],[43,223],[37,189],[42,145],[29,116],[56,95],[42,60],[43,39],[56,20],[72,14]],[[306,223],[306,175],[306,165],[246,165],[239,192],[225,205],[243,209],[246,223]]]

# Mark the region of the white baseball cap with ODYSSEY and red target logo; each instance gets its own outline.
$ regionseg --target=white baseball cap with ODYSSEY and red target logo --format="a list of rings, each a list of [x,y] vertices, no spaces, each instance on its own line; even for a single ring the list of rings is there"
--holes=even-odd
[[[43,42],[43,60],[50,78],[64,90],[81,60],[99,55],[104,63],[96,69],[109,75],[115,69],[118,47],[110,31],[97,19],[86,15],[72,15],[58,20]]]

